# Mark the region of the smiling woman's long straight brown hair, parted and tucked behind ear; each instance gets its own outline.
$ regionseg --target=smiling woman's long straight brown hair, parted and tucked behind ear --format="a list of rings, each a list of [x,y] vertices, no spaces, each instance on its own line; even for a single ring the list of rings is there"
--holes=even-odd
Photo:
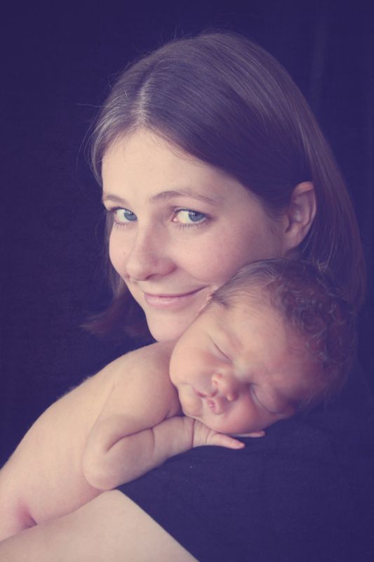
[[[312,181],[316,217],[295,254],[329,268],[359,306],[365,268],[347,189],[305,99],[272,55],[239,34],[208,32],[171,41],[128,67],[93,130],[99,182],[105,152],[140,128],[224,170],[275,217],[288,208],[295,185]],[[96,331],[121,324],[144,332],[140,307],[113,269],[111,276],[114,301],[94,322]]]

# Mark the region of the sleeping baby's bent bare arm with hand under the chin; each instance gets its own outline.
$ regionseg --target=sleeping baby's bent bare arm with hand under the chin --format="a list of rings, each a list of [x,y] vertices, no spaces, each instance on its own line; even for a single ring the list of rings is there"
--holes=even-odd
[[[116,488],[191,447],[241,446],[179,415],[178,394],[168,375],[171,348],[154,344],[119,363],[121,373],[84,451],[84,476],[95,488]]]

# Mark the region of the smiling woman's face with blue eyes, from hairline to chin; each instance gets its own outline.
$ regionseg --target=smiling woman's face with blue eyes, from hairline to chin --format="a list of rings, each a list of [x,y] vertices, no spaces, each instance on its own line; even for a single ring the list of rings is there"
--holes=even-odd
[[[241,183],[141,129],[102,162],[109,256],[156,340],[178,338],[246,263],[281,256],[284,221]]]

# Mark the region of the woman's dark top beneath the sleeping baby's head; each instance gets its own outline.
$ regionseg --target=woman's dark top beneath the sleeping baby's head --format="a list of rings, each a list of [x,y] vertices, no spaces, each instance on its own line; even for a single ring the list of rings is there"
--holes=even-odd
[[[245,442],[119,490],[201,562],[374,561],[374,404],[358,368],[328,407]]]

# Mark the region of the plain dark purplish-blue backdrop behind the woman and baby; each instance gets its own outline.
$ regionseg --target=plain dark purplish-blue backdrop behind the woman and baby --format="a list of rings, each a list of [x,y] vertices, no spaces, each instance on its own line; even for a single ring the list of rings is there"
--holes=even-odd
[[[109,301],[86,134],[129,60],[220,27],[278,58],[347,179],[369,273],[360,357],[374,388],[374,16],[362,1],[29,2],[2,8],[0,464],[53,400],[133,344],[79,328]]]

